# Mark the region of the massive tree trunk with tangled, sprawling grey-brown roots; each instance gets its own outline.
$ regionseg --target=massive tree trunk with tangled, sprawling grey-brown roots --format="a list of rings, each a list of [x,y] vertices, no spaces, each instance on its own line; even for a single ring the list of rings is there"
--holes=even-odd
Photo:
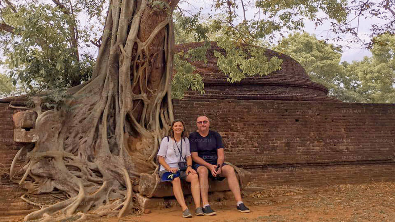
[[[178,0],[165,2],[168,8],[111,0],[92,80],[70,88],[73,98],[60,110],[42,112],[37,100],[40,139],[23,168],[11,166],[10,179],[34,193],[57,188],[69,199],[25,220],[59,210],[122,216],[133,207],[139,175],[158,170],[154,157],[173,120],[171,13]]]

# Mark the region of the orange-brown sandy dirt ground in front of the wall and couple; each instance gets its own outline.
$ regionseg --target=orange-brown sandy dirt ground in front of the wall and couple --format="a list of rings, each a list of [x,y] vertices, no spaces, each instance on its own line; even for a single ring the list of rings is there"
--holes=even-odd
[[[123,218],[91,218],[94,222],[395,222],[395,183],[328,185],[320,188],[265,187],[243,195],[250,213],[240,213],[230,195],[211,195],[215,216],[181,217],[181,207],[152,209]],[[191,200],[187,201],[190,202]],[[173,203],[173,202],[172,202]],[[194,205],[188,203],[190,209]],[[191,210],[192,211],[192,210]],[[193,211],[194,214],[194,211]]]

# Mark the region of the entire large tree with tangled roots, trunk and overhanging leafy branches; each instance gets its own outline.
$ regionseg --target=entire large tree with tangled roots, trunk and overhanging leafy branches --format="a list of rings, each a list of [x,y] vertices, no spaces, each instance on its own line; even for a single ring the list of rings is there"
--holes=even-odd
[[[58,0],[53,2],[64,7]],[[6,3],[9,11],[17,11],[10,1]],[[43,216],[44,220],[51,220],[45,216],[58,211],[66,215],[117,212],[123,216],[135,206],[132,188],[139,184],[142,174],[156,173],[154,158],[174,119],[173,63],[178,66],[174,79],[181,82],[193,71],[180,62],[180,55],[173,56],[172,18],[178,3],[179,0],[111,0],[90,80],[69,88],[70,96],[52,109],[43,104],[40,96],[34,98],[32,109],[38,114],[39,139],[32,150],[24,148],[17,153],[10,179],[30,193],[60,190],[67,199],[28,214],[25,220]],[[207,40],[207,32],[216,33],[218,45],[227,51],[227,55],[216,55],[221,61],[218,65],[230,81],[240,81],[246,73],[270,73],[280,64],[275,58],[262,62],[264,55],[256,48],[247,55],[234,47],[238,45],[234,42],[256,43],[264,37],[270,39],[273,32],[283,27],[301,28],[304,16],[320,23],[324,19],[316,17],[318,9],[338,22],[346,15],[342,3],[336,0],[215,0],[213,8],[223,12],[212,21],[215,27],[200,24],[195,16],[184,17],[179,27],[185,34],[193,32],[197,40]],[[256,15],[266,18],[246,15],[247,8],[256,9]],[[6,24],[0,28],[14,32]],[[43,43],[37,39],[32,42]],[[72,42],[77,45],[77,41]],[[205,55],[204,48],[199,50],[184,56],[201,58],[198,55]],[[183,85],[183,90],[192,86]],[[27,161],[18,168],[16,162],[21,156],[26,156]]]

